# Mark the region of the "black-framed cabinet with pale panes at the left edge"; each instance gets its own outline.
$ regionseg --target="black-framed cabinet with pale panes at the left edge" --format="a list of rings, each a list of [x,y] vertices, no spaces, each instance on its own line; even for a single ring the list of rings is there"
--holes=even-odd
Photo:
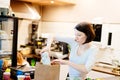
[[[17,66],[18,18],[0,16],[0,57],[11,55],[12,67]]]

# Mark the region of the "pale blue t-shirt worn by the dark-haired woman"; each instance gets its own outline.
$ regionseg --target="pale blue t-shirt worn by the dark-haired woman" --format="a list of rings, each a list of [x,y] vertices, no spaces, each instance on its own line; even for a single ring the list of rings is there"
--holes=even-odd
[[[57,36],[56,40],[66,42],[70,45],[70,55],[69,61],[76,64],[84,64],[88,71],[91,70],[92,66],[95,63],[95,56],[97,54],[98,48],[95,45],[92,45],[88,50],[86,50],[82,55],[77,55],[77,50],[79,44],[74,40],[74,38]],[[81,72],[77,71],[75,68],[69,66],[69,76],[70,77],[81,77]]]

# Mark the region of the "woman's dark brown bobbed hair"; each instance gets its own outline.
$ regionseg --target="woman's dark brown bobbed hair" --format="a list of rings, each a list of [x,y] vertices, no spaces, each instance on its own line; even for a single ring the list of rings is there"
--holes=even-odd
[[[95,32],[91,23],[81,22],[75,26],[75,29],[85,33],[87,36],[85,43],[89,43],[95,38]]]

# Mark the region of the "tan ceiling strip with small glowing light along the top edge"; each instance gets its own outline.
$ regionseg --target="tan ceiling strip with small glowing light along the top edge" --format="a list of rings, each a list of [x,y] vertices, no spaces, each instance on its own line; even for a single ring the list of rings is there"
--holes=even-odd
[[[75,0],[15,0],[39,5],[75,5]]]

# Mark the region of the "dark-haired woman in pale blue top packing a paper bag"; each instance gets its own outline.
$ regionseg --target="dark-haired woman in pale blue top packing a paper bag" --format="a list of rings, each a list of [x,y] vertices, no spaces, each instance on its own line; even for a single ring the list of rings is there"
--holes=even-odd
[[[52,62],[69,65],[70,79],[79,78],[79,80],[84,80],[86,74],[95,63],[95,56],[98,51],[97,47],[91,44],[94,38],[95,33],[92,25],[87,22],[82,22],[75,26],[75,39],[55,36],[54,39],[48,39],[48,45],[41,53],[50,49],[52,40],[68,43],[71,48],[69,61],[55,59]]]

